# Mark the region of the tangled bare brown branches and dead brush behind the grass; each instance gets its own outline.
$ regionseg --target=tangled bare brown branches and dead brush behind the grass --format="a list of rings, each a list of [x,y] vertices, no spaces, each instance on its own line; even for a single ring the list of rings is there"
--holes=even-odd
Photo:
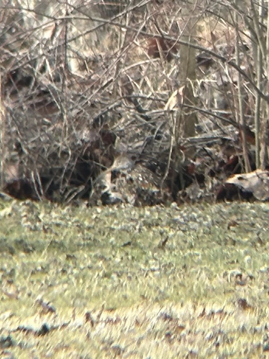
[[[180,4],[1,3],[4,191],[212,201],[266,168],[266,3]]]

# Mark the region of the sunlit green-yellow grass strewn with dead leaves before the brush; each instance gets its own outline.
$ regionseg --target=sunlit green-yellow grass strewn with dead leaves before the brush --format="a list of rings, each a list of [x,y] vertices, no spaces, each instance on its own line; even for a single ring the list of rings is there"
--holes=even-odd
[[[0,202],[0,358],[268,358],[269,204]]]

